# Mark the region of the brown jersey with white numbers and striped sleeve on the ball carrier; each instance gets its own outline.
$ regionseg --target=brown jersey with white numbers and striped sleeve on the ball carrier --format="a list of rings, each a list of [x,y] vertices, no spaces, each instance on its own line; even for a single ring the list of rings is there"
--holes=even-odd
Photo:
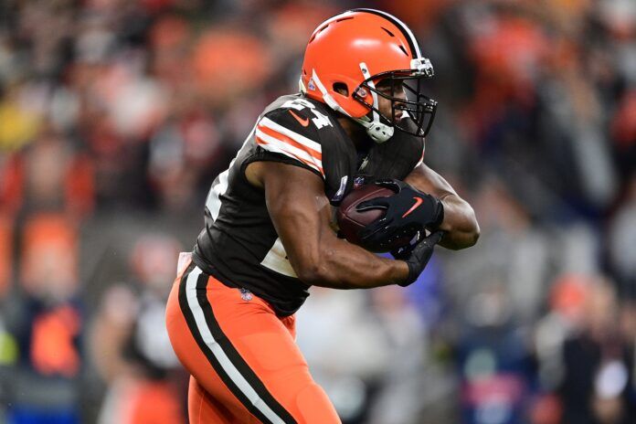
[[[279,315],[291,315],[309,295],[309,285],[292,269],[263,190],[245,176],[247,165],[275,161],[308,169],[323,179],[324,195],[337,207],[354,185],[403,180],[423,152],[422,138],[396,132],[359,154],[334,111],[300,94],[282,96],[259,116],[228,170],[210,187],[193,260],[224,284],[270,302]]]

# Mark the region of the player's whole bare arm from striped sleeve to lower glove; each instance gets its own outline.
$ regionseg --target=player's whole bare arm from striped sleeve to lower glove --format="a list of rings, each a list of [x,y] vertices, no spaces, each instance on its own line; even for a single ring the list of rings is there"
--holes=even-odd
[[[406,262],[378,257],[335,236],[318,175],[290,164],[256,162],[249,164],[246,176],[265,190],[271,220],[301,281],[335,289],[408,281]]]

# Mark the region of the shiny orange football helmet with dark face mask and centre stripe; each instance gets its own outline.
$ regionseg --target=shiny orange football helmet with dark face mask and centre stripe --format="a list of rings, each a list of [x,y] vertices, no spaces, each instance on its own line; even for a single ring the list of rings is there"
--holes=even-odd
[[[306,96],[363,125],[376,143],[384,143],[395,128],[418,136],[429,132],[437,102],[420,89],[421,81],[432,76],[433,67],[421,56],[408,26],[379,10],[353,9],[313,31],[300,87]],[[390,94],[376,89],[380,80],[389,80]],[[403,83],[406,100],[396,96],[397,83]],[[391,101],[392,116],[379,111],[377,96]]]

